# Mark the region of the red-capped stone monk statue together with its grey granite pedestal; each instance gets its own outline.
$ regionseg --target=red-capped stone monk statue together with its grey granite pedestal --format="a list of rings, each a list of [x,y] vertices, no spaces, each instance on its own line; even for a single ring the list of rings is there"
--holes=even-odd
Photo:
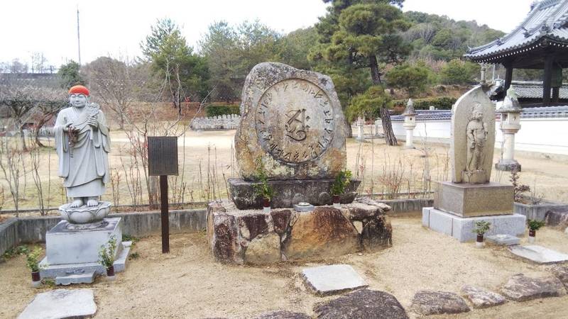
[[[40,276],[56,284],[92,282],[105,272],[98,263],[99,248],[115,237],[115,272],[124,269],[129,248],[122,243],[121,218],[105,218],[111,203],[100,201],[110,181],[109,127],[104,113],[89,103],[89,90],[69,90],[70,107],[58,113],[53,133],[59,156],[59,176],[71,203],[60,206],[62,221],[45,235],[45,259]]]

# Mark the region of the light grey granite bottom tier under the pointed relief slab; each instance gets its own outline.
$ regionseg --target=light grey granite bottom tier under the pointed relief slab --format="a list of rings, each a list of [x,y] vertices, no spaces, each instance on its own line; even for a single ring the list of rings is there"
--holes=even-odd
[[[486,235],[520,236],[525,234],[526,217],[523,215],[460,217],[432,207],[422,208],[422,226],[452,236],[459,242],[476,239],[476,234],[471,230],[474,229],[475,222],[479,220],[491,223],[491,229]]]

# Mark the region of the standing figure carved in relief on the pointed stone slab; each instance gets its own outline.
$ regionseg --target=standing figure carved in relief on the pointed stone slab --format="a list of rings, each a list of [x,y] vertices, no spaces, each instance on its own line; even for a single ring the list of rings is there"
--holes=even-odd
[[[488,128],[484,123],[484,108],[476,103],[471,111],[471,119],[466,126],[467,162],[464,170],[464,181],[470,183],[484,182],[484,146]]]

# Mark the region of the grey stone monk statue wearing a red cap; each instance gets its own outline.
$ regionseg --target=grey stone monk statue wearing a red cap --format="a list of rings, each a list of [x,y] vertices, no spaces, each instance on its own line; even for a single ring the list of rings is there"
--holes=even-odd
[[[72,198],[72,202],[64,206],[66,209],[94,208],[99,206],[99,198],[110,180],[109,127],[99,106],[89,103],[86,87],[73,86],[69,90],[69,101],[70,107],[58,113],[53,128],[59,177],[64,179],[67,197]]]

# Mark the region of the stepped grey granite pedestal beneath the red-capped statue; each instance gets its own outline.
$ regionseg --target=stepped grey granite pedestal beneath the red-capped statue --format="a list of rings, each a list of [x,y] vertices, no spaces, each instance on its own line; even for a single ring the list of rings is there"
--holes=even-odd
[[[41,278],[55,278],[56,284],[81,284],[105,274],[99,250],[116,238],[114,272],[126,265],[131,242],[122,242],[122,219],[104,218],[97,225],[70,224],[62,220],[45,235],[45,258],[40,262]]]

